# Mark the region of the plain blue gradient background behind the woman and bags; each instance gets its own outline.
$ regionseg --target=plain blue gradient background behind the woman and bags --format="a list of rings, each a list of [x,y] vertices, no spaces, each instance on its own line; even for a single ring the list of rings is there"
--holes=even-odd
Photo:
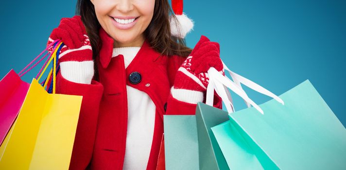
[[[25,67],[46,45],[61,17],[72,17],[76,0],[3,1],[0,5],[0,77]],[[345,0],[185,0],[194,19],[187,36],[220,43],[221,57],[234,72],[275,94],[309,79],[346,125]],[[31,82],[38,68],[24,77]],[[245,89],[257,103],[264,97]],[[233,95],[237,110],[245,108]]]

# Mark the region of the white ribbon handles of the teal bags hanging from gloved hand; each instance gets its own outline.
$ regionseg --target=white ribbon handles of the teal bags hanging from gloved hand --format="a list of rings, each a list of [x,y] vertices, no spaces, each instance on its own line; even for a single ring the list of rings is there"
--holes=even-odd
[[[234,106],[232,103],[232,98],[230,97],[230,93],[227,88],[231,89],[233,92],[235,92],[237,95],[242,97],[242,99],[246,102],[247,106],[250,105],[254,106],[261,114],[263,113],[263,110],[255,103],[253,102],[245,93],[245,91],[242,89],[241,84],[248,86],[249,88],[260,92],[264,95],[267,95],[269,97],[274,98],[277,102],[280,102],[281,104],[284,104],[284,102],[275,94],[270,92],[269,90],[263,88],[262,86],[252,82],[249,79],[246,79],[242,77],[241,75],[232,72],[223,62],[224,69],[229,72],[231,75],[232,80],[230,80],[228,77],[222,75],[220,72],[218,72],[215,68],[210,68],[208,70],[209,75],[209,84],[207,87],[207,99],[206,104],[213,106],[213,100],[214,100],[214,89],[216,93],[222,98],[222,100],[225,102],[226,109],[228,113],[234,112]]]

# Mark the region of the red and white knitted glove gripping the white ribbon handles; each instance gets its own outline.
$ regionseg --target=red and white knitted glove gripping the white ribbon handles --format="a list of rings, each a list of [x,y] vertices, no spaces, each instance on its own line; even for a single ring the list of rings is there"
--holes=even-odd
[[[203,102],[209,83],[207,71],[211,67],[225,75],[219,44],[202,35],[176,73],[171,89],[173,98],[193,104]]]

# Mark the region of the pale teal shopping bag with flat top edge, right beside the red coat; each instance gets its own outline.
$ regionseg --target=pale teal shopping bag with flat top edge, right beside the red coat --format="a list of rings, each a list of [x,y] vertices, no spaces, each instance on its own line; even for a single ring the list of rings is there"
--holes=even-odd
[[[164,115],[166,170],[199,170],[197,123],[194,115]]]

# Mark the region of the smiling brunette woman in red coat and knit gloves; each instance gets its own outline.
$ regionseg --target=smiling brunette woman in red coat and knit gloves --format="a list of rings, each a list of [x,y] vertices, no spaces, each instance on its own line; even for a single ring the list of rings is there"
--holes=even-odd
[[[70,169],[155,170],[163,115],[194,114],[205,101],[208,68],[223,72],[219,45],[202,36],[191,51],[172,36],[167,0],[78,0],[77,9],[48,42],[65,44],[57,93],[83,96]]]

